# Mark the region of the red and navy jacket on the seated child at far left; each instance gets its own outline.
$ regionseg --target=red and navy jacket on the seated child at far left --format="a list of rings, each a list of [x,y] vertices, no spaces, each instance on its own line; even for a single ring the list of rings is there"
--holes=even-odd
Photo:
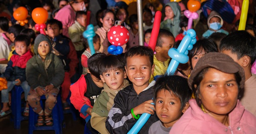
[[[8,81],[15,81],[20,79],[21,82],[26,80],[26,63],[33,54],[30,50],[26,51],[22,56],[18,55],[15,51],[10,61],[7,64],[4,77]]]

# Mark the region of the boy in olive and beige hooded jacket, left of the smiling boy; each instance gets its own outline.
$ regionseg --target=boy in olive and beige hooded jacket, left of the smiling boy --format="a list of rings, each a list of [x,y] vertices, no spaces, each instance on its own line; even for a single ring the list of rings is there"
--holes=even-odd
[[[108,55],[102,58],[99,68],[104,89],[93,105],[91,125],[100,134],[109,134],[105,127],[108,112],[113,106],[116,94],[130,84],[128,80],[124,80],[127,76],[125,62],[121,57]]]

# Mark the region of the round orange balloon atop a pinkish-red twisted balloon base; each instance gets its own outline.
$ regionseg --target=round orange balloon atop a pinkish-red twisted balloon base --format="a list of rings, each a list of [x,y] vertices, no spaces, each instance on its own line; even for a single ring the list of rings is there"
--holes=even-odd
[[[41,7],[35,8],[32,11],[32,19],[37,24],[44,24],[47,21],[48,18],[48,12]]]

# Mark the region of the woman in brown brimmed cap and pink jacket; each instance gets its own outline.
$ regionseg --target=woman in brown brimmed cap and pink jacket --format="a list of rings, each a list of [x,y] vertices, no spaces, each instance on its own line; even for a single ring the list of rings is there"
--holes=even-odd
[[[244,80],[243,68],[231,57],[205,54],[188,81],[195,99],[170,134],[256,134],[256,117],[239,101]]]

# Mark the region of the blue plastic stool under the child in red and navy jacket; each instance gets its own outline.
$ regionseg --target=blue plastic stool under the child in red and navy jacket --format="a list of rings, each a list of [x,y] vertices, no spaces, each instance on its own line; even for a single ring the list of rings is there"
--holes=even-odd
[[[21,94],[23,89],[21,86],[14,86],[12,89],[12,118],[14,121],[14,129],[20,129],[20,122],[23,120],[29,120],[29,117],[22,116],[24,108],[21,108]],[[26,105],[26,102],[25,102]]]

